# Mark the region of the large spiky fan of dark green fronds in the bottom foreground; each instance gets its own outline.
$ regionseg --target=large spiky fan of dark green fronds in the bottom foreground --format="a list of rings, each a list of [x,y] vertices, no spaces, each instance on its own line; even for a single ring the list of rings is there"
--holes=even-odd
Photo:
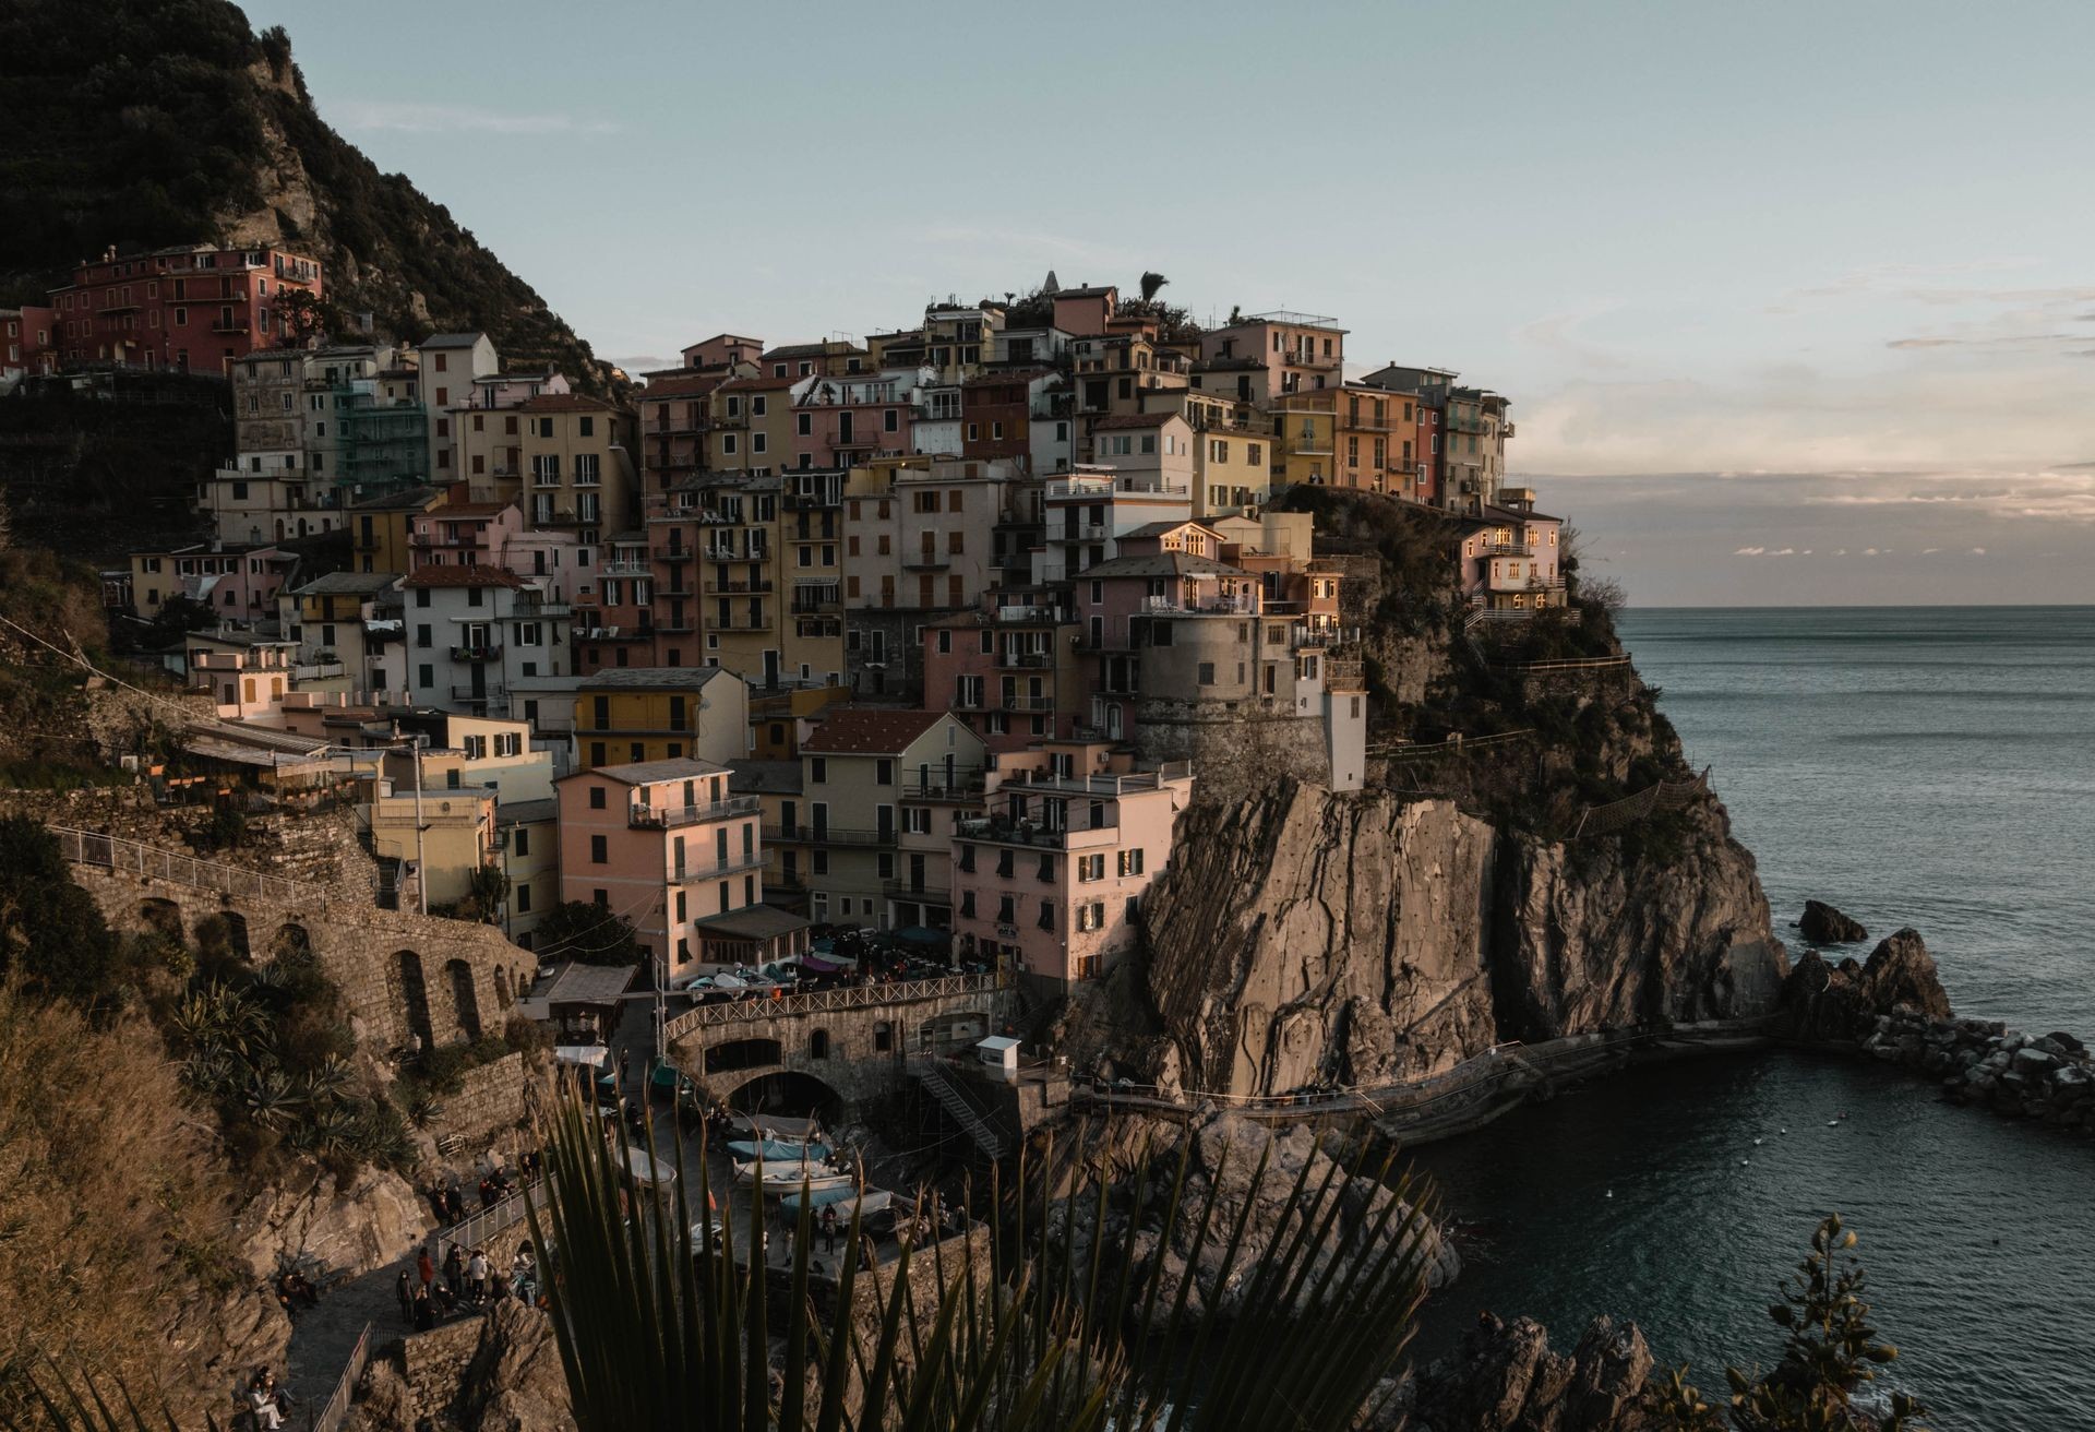
[[[620,1189],[641,1187],[629,1155],[568,1092],[551,1111],[549,1176],[528,1197],[532,1237],[557,1250],[551,1308],[576,1424],[582,1432],[1349,1428],[1410,1336],[1425,1289],[1425,1216],[1402,1189],[1395,1199],[1372,1197],[1387,1164],[1326,1164],[1316,1187],[1305,1164],[1272,1237],[1249,1239],[1255,1199],[1221,1208],[1219,1180],[1198,1206],[1186,1195],[1190,1143],[1169,1178],[1150,1178],[1144,1155],[1135,1208],[1119,1233],[1102,1183],[1096,1199],[1064,1203],[1064,1237],[1048,1237],[1039,1210],[1054,1201],[1029,1189],[1022,1164],[1006,1197],[991,1191],[993,1227],[928,1247],[903,1241],[888,1260],[861,1262],[863,1220],[853,1210],[834,1279],[817,1285],[807,1199],[792,1264],[769,1277],[763,1258],[735,1260],[731,1206],[725,1247],[710,1216],[693,1229],[681,1180],[672,1191],[645,1185],[629,1218]],[[710,1208],[704,1136],[698,1151],[685,1164],[696,1170],[696,1208]],[[1257,1172],[1265,1174],[1265,1155]],[[1362,1220],[1362,1208],[1381,1212]],[[1351,1224],[1341,1210],[1351,1210]],[[1066,1237],[1073,1229],[1087,1237]],[[1182,1233],[1213,1258],[1188,1260],[1167,1294],[1156,1250]],[[1238,1315],[1217,1319],[1211,1310],[1226,1289],[1242,1289],[1230,1298]]]

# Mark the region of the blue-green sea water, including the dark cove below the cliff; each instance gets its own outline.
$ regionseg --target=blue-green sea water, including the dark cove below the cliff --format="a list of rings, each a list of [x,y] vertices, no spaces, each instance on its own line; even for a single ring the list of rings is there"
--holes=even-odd
[[[1911,925],[1959,1015],[2095,1042],[2095,608],[1632,608],[1619,629],[1791,950],[1806,897],[1871,941]],[[1607,1312],[1722,1394],[1726,1363],[1779,1357],[1766,1306],[1837,1212],[1900,1350],[1883,1386],[1932,1428],[2095,1428],[2087,1136],[1777,1050],[1601,1080],[1416,1164],[1464,1256],[1416,1357],[1479,1308],[1559,1350]]]

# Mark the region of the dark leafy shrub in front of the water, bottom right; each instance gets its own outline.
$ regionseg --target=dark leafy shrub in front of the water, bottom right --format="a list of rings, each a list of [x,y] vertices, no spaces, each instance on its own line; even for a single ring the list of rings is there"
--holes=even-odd
[[[1852,1398],[1898,1359],[1898,1348],[1877,1342],[1862,1302],[1867,1277],[1852,1256],[1856,1237],[1833,1214],[1812,1233],[1812,1252],[1781,1285],[1768,1317],[1783,1329],[1783,1357],[1774,1371],[1724,1369],[1730,1384],[1726,1413],[1703,1401],[1676,1369],[1657,1390],[1657,1413],[1672,1432],[1925,1432],[1927,1409],[1906,1392],[1890,1394],[1890,1411],[1865,1415]]]

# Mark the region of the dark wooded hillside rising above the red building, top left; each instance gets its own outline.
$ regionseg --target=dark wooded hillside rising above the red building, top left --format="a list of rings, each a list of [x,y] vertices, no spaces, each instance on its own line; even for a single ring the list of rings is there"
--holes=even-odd
[[[0,302],[42,300],[111,243],[281,241],[396,338],[486,329],[511,365],[610,386],[444,205],[321,120],[289,36],[256,36],[228,0],[0,6]]]

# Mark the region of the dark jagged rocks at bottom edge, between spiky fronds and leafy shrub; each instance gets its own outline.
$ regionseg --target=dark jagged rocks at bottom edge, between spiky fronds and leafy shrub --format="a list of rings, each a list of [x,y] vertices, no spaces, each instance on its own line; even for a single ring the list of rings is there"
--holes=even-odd
[[[1569,1352],[1534,1319],[1490,1312],[1462,1344],[1397,1388],[1381,1426],[1408,1432],[1642,1432],[1651,1348],[1636,1323],[1596,1317]]]

